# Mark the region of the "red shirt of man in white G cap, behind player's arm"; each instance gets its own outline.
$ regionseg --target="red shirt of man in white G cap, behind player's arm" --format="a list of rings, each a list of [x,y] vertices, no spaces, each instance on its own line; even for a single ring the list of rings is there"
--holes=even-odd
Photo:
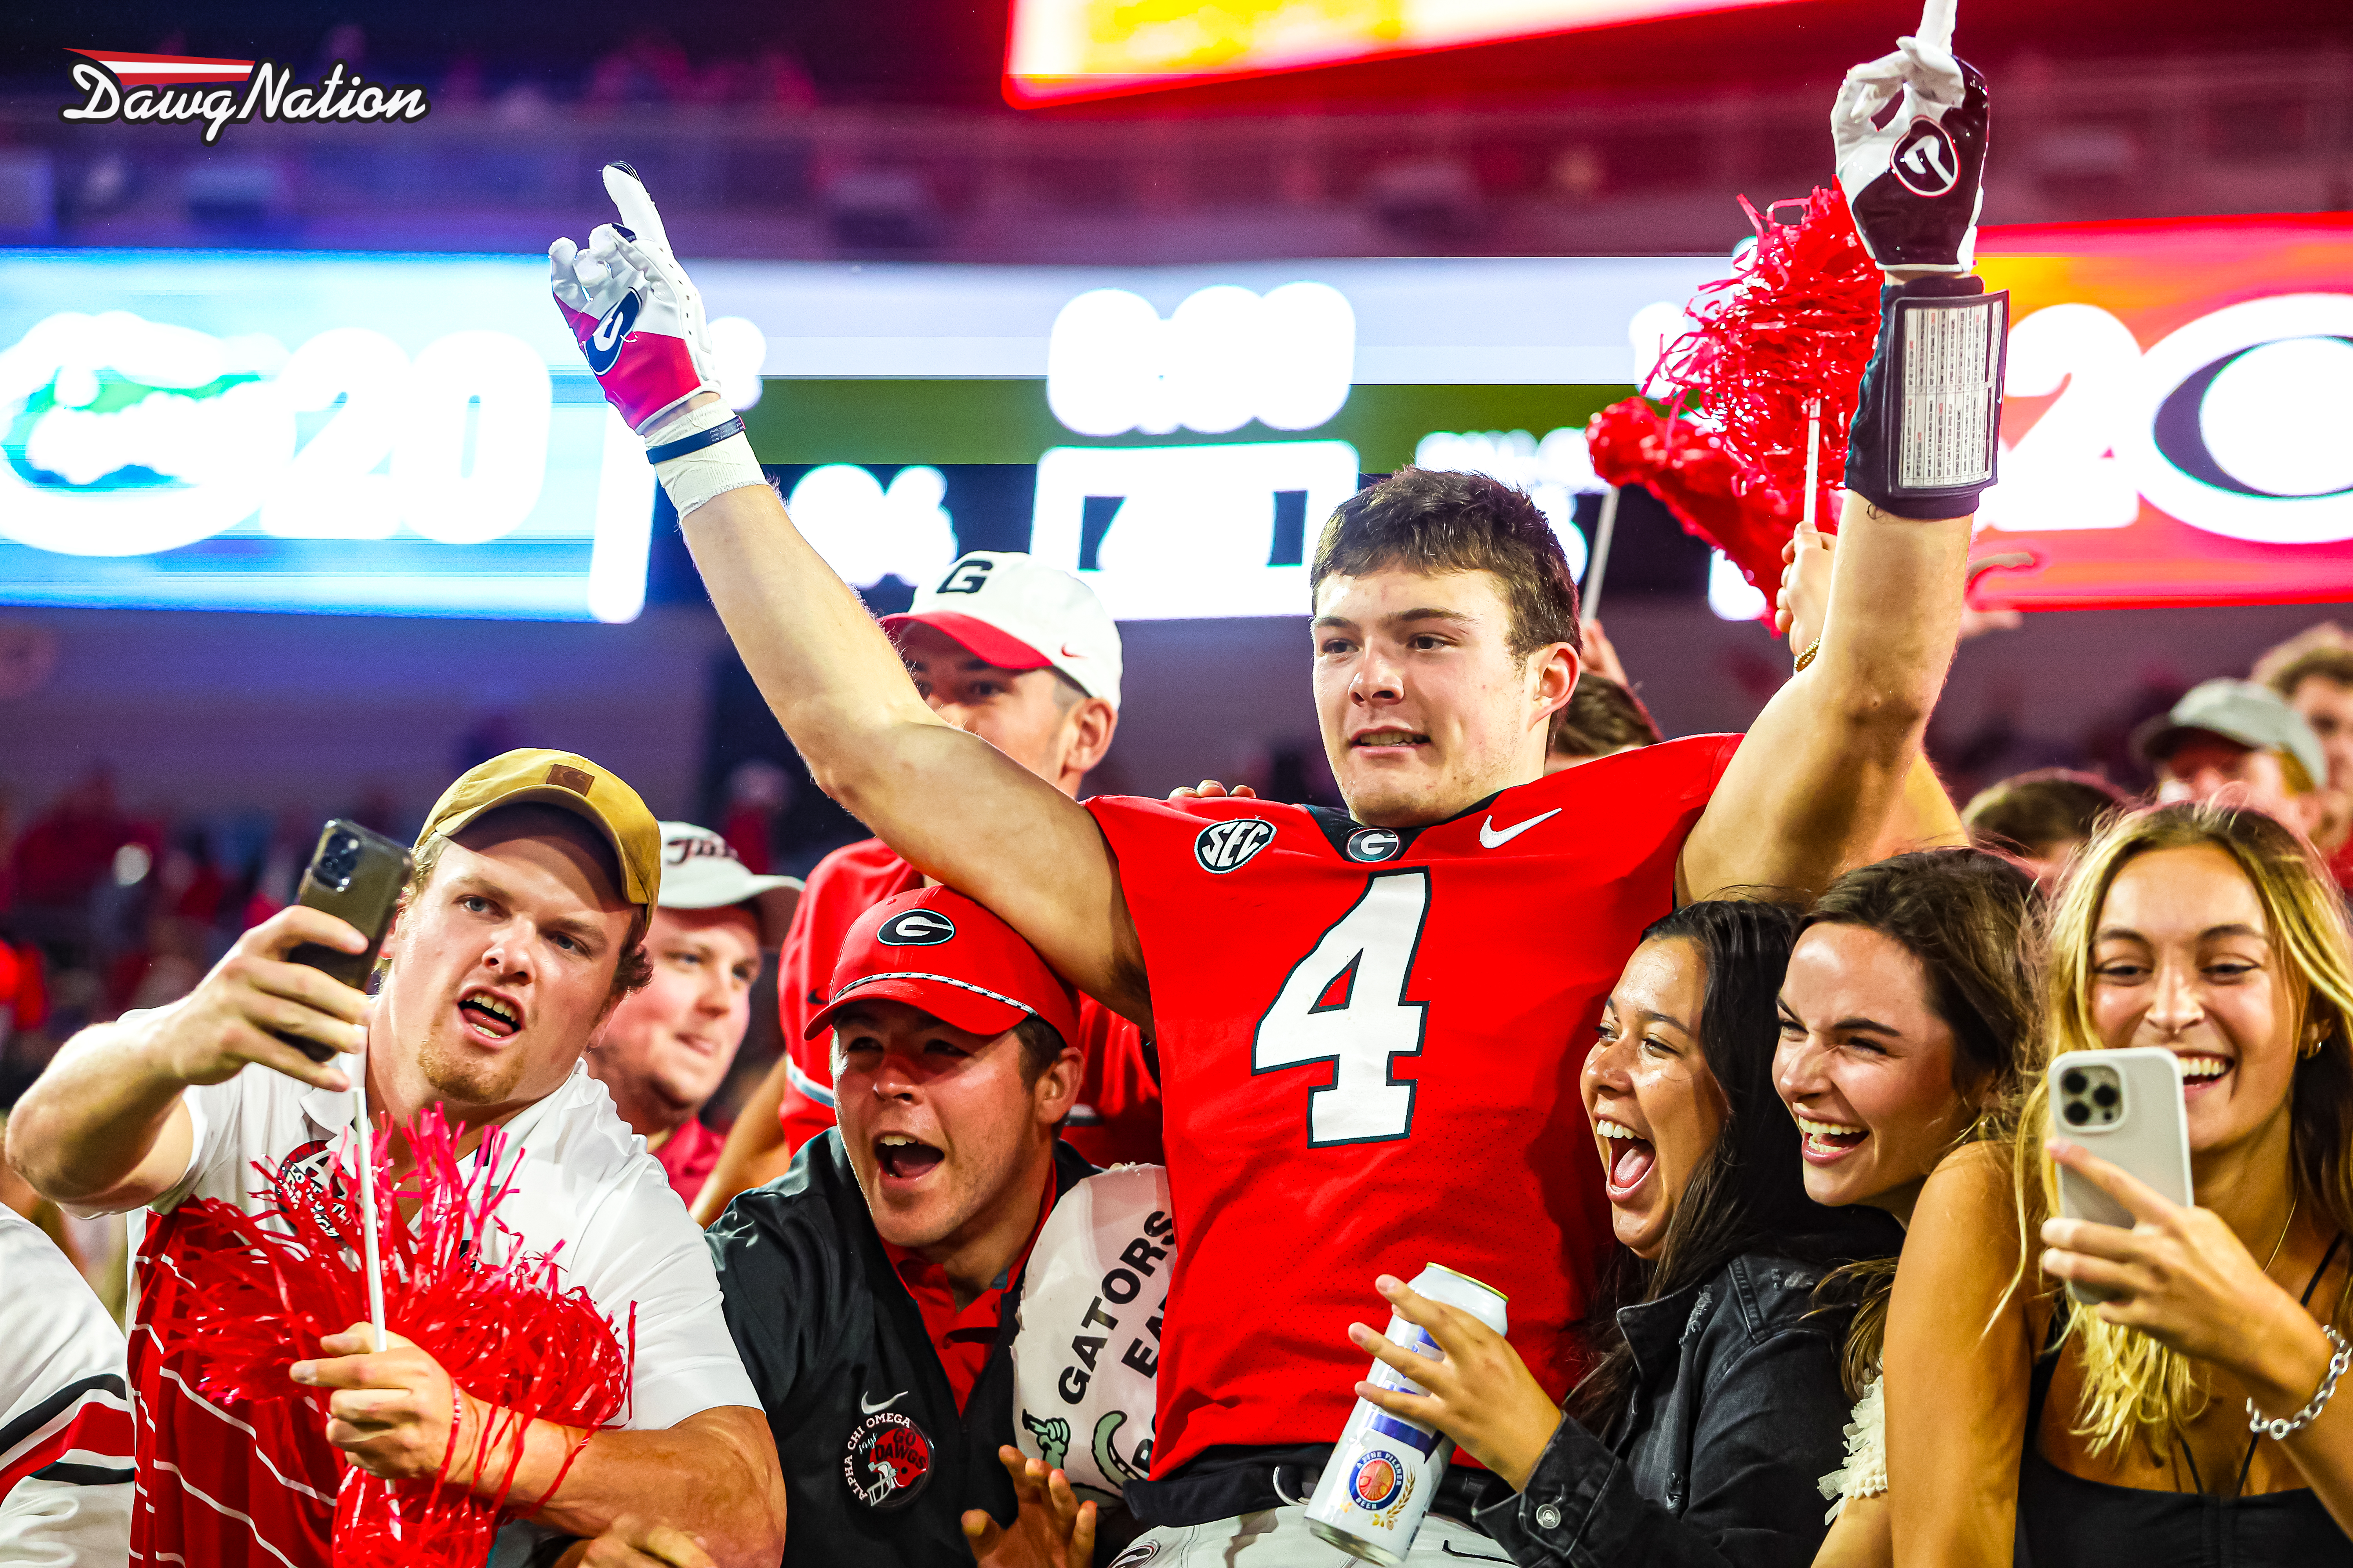
[[[784,1023],[786,1088],[776,1105],[784,1143],[798,1150],[833,1126],[833,1037],[802,1039],[809,1016],[833,999],[833,964],[859,914],[922,886],[922,872],[882,839],[835,849],[809,872],[776,966],[776,1013]],[[1094,997],[1078,999],[1075,1041],[1087,1053],[1078,1105],[1061,1124],[1073,1150],[1096,1166],[1160,1164],[1160,1084],[1144,1058],[1144,1037]]]

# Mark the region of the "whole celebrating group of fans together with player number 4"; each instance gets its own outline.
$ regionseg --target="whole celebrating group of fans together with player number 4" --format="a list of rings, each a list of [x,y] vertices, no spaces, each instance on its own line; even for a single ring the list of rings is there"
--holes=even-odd
[[[1664,738],[1534,501],[1405,468],[1308,569],[1346,809],[1087,795],[1122,644],[1040,559],[875,621],[607,167],[558,306],[878,837],[802,886],[591,757],[475,757],[362,992],[304,961],[369,950],[285,903],[304,835],[235,884],[101,776],[28,823],[5,1197],[68,1251],[129,1215],[139,1295],[122,1345],[0,1291],[0,1547],[308,1568],[471,1509],[492,1561],[624,1568],[2353,1559],[2353,639],[2148,715],[2146,797],[1955,806],[1922,738],[2000,400],[1991,336],[1904,322],[2002,317],[1984,80],[1922,35],[1833,115],[1887,315],[1786,684]],[[765,952],[788,1048],[720,1147]],[[504,1305],[428,1316],[442,1267]]]

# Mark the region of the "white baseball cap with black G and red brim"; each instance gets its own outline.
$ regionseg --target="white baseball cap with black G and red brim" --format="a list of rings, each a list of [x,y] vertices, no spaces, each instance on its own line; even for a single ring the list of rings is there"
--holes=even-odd
[[[969,550],[932,588],[918,588],[904,616],[882,616],[899,635],[929,625],[1000,670],[1061,670],[1080,691],[1120,705],[1120,628],[1094,590],[1068,571],[1016,550]]]

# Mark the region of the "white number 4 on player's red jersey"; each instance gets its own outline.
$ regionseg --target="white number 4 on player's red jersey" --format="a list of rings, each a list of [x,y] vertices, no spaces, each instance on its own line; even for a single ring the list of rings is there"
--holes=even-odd
[[[1339,1063],[1332,1084],[1308,1095],[1308,1147],[1412,1128],[1414,1086],[1391,1077],[1391,1060],[1421,1053],[1424,1004],[1407,1001],[1405,987],[1428,910],[1426,870],[1372,877],[1259,1018],[1252,1072]]]

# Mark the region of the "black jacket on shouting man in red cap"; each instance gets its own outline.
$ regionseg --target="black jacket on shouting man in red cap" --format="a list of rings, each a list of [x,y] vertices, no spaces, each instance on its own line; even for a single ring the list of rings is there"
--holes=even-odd
[[[1094,1173],[1054,1143],[1054,1197]],[[965,1410],[915,1298],[906,1293],[842,1135],[812,1138],[793,1166],[706,1232],[727,1331],[760,1389],[784,1465],[784,1563],[972,1563],[965,1509],[1014,1521],[998,1465],[1012,1436],[1012,1338],[1021,1281]]]

